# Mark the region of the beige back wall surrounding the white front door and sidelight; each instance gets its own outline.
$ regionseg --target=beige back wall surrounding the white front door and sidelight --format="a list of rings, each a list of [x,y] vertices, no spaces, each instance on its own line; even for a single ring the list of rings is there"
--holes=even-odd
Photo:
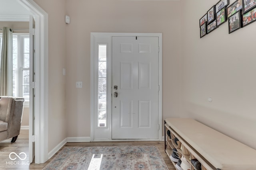
[[[90,32],[163,33],[163,119],[179,115],[179,1],[67,0],[67,14],[68,137],[90,137]]]

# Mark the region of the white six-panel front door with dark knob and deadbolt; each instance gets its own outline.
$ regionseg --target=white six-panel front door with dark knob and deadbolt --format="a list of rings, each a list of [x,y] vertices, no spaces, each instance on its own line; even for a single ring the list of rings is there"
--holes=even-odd
[[[112,37],[112,139],[158,139],[158,37]]]

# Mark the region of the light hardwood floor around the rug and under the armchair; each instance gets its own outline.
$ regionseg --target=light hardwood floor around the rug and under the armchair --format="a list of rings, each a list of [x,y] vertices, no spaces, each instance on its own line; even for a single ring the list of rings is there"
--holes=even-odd
[[[11,140],[0,142],[0,170],[42,170],[64,147],[90,147],[90,146],[156,146],[158,147],[169,170],[176,170],[168,155],[164,151],[163,141],[114,141],[114,142],[88,142],[88,143],[66,143],[50,160],[44,164],[28,164],[28,130],[21,130],[20,135],[15,143],[10,143]],[[20,160],[14,153],[20,158]],[[24,152],[25,154],[20,154]],[[12,153],[12,154],[11,154]],[[20,155],[19,155],[20,154]],[[10,158],[16,160],[11,160]]]

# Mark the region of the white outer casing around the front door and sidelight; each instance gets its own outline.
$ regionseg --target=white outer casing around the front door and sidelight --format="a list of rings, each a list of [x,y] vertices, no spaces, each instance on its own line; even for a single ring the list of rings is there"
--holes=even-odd
[[[90,141],[94,141],[94,113],[95,113],[95,90],[97,90],[95,84],[96,78],[96,68],[95,68],[95,49],[94,49],[94,41],[95,37],[114,37],[114,36],[140,36],[140,37],[158,37],[159,38],[159,59],[158,59],[158,84],[160,86],[159,96],[158,96],[158,123],[159,123],[159,131],[158,131],[158,140],[162,141],[162,33],[91,33],[91,77],[90,77],[90,91],[91,91],[91,133],[90,133]],[[111,76],[111,75],[109,75]],[[109,79],[108,79],[109,80]],[[104,139],[102,139],[103,141]],[[117,141],[117,140],[105,140],[105,141]],[[126,141],[126,140],[123,140]],[[146,141],[146,140],[144,140]]]

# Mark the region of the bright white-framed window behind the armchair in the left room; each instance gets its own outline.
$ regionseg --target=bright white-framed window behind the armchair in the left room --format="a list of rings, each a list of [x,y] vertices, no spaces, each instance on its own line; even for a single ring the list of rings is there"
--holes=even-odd
[[[29,105],[29,34],[13,33],[13,96],[24,97],[25,106]],[[0,35],[0,55],[2,35]]]

